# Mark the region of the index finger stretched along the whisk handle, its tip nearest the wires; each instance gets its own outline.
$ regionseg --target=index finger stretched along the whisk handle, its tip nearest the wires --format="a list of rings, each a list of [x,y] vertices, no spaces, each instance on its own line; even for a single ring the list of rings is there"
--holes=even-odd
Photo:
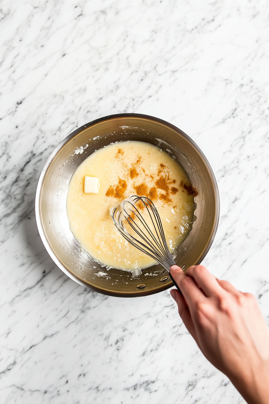
[[[195,281],[190,276],[184,274],[180,267],[172,265],[170,271],[188,306],[206,298]]]

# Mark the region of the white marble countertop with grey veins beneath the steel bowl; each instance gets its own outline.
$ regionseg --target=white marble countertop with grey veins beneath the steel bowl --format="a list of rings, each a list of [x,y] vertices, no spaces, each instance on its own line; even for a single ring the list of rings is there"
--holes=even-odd
[[[121,112],[186,132],[216,173],[221,217],[204,265],[269,320],[267,0],[2,0],[2,404],[243,403],[200,353],[169,290],[91,292],[63,274],[35,223],[50,153]]]

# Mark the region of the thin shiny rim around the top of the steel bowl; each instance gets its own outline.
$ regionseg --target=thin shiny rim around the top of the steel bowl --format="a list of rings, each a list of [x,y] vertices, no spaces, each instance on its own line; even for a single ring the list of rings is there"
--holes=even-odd
[[[200,149],[200,147],[186,134],[184,133],[181,129],[179,129],[177,126],[162,120],[160,118],[156,118],[154,116],[150,116],[150,115],[145,115],[145,114],[132,114],[132,113],[122,113],[122,114],[112,114],[112,115],[107,115],[107,116],[103,116],[101,118],[95,119],[93,121],[88,122],[87,124],[84,124],[82,126],[80,126],[79,128],[73,130],[73,132],[70,133],[70,135],[68,135],[67,137],[65,137],[65,139],[63,139],[58,146],[56,146],[54,148],[54,150],[52,151],[52,153],[50,154],[50,156],[48,157],[48,160],[46,161],[39,180],[38,180],[38,184],[37,184],[37,188],[36,188],[36,193],[35,193],[35,220],[36,220],[36,224],[38,227],[38,232],[40,234],[40,238],[44,244],[44,247],[46,248],[48,254],[50,255],[50,257],[52,258],[52,260],[54,261],[54,263],[67,275],[69,276],[69,278],[71,278],[72,280],[74,280],[75,282],[77,282],[78,284],[80,284],[81,286],[84,286],[85,288],[94,290],[96,292],[102,293],[102,294],[106,294],[106,295],[110,295],[110,296],[114,296],[114,297],[138,297],[138,296],[149,296],[152,295],[156,292],[161,292],[163,290],[169,289],[171,287],[174,286],[174,283],[172,282],[168,282],[165,285],[156,287],[156,288],[152,288],[151,290],[147,290],[147,291],[143,291],[141,290],[138,293],[130,293],[130,292],[112,292],[111,290],[105,289],[105,288],[99,288],[97,286],[93,286],[90,285],[86,282],[81,281],[80,278],[77,278],[76,276],[74,276],[69,269],[67,269],[67,267],[65,267],[65,265],[63,265],[61,263],[61,261],[57,258],[57,256],[54,254],[54,251],[52,250],[52,248],[50,247],[50,243],[48,242],[48,239],[46,237],[45,231],[44,231],[44,227],[42,225],[42,219],[41,219],[41,209],[40,209],[40,196],[41,196],[41,190],[42,190],[42,184],[44,181],[44,177],[46,175],[46,171],[48,170],[48,167],[50,166],[52,160],[54,159],[54,157],[56,156],[56,154],[58,153],[58,151],[69,141],[71,140],[73,137],[75,137],[76,135],[78,135],[80,132],[82,132],[83,130],[85,130],[86,128],[89,128],[90,126],[93,126],[94,124],[98,123],[98,122],[102,122],[105,120],[111,120],[114,118],[142,118],[142,119],[146,119],[146,120],[152,120],[155,121],[157,123],[163,124],[165,126],[170,127],[171,129],[175,130],[176,132],[179,132],[183,137],[185,137],[194,147],[194,149],[196,149],[196,151],[198,152],[198,154],[200,154],[200,157],[202,158],[202,160],[204,161],[204,164],[206,165],[206,168],[208,169],[212,181],[213,181],[213,186],[214,186],[214,190],[215,190],[215,202],[216,202],[216,207],[215,207],[215,222],[214,222],[214,226],[213,229],[211,230],[211,235],[209,238],[209,242],[206,245],[206,248],[204,249],[202,255],[200,256],[200,258],[198,259],[198,261],[194,264],[194,265],[198,265],[200,264],[203,259],[206,257],[206,254],[209,252],[209,249],[212,246],[212,243],[214,241],[216,232],[217,232],[217,228],[218,228],[218,224],[219,224],[219,214],[220,214],[220,198],[219,198],[219,187],[218,187],[218,183],[217,183],[217,178],[215,176],[214,170],[211,166],[211,164],[209,163],[209,160],[206,158],[206,156],[204,155],[204,153],[202,152],[202,150]],[[119,296],[121,295],[121,296]]]

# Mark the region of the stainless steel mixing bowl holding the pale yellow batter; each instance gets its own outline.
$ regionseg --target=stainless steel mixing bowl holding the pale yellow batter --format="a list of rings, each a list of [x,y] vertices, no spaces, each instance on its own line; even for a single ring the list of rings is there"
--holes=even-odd
[[[53,261],[77,283],[119,297],[137,297],[173,286],[167,272],[154,265],[133,278],[119,269],[107,270],[81,250],[69,229],[66,198],[79,164],[112,142],[138,140],[158,145],[176,156],[198,190],[192,231],[179,247],[176,263],[187,268],[208,252],[219,221],[219,192],[213,170],[199,147],[184,132],[158,118],[118,114],[90,122],[67,136],[46,162],[36,191],[35,213],[40,237]],[[106,276],[98,275],[98,272]],[[146,275],[147,274],[147,275]],[[150,275],[151,274],[151,275]]]

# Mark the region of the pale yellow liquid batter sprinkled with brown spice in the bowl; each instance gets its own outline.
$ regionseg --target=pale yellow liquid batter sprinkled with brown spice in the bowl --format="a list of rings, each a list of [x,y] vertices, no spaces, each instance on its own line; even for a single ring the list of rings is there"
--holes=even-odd
[[[84,193],[85,176],[99,178],[98,194]],[[196,194],[182,166],[159,147],[139,141],[111,144],[86,158],[70,180],[70,229],[96,261],[117,269],[147,268],[155,261],[119,234],[109,208],[131,195],[148,196],[173,252],[191,229]]]

